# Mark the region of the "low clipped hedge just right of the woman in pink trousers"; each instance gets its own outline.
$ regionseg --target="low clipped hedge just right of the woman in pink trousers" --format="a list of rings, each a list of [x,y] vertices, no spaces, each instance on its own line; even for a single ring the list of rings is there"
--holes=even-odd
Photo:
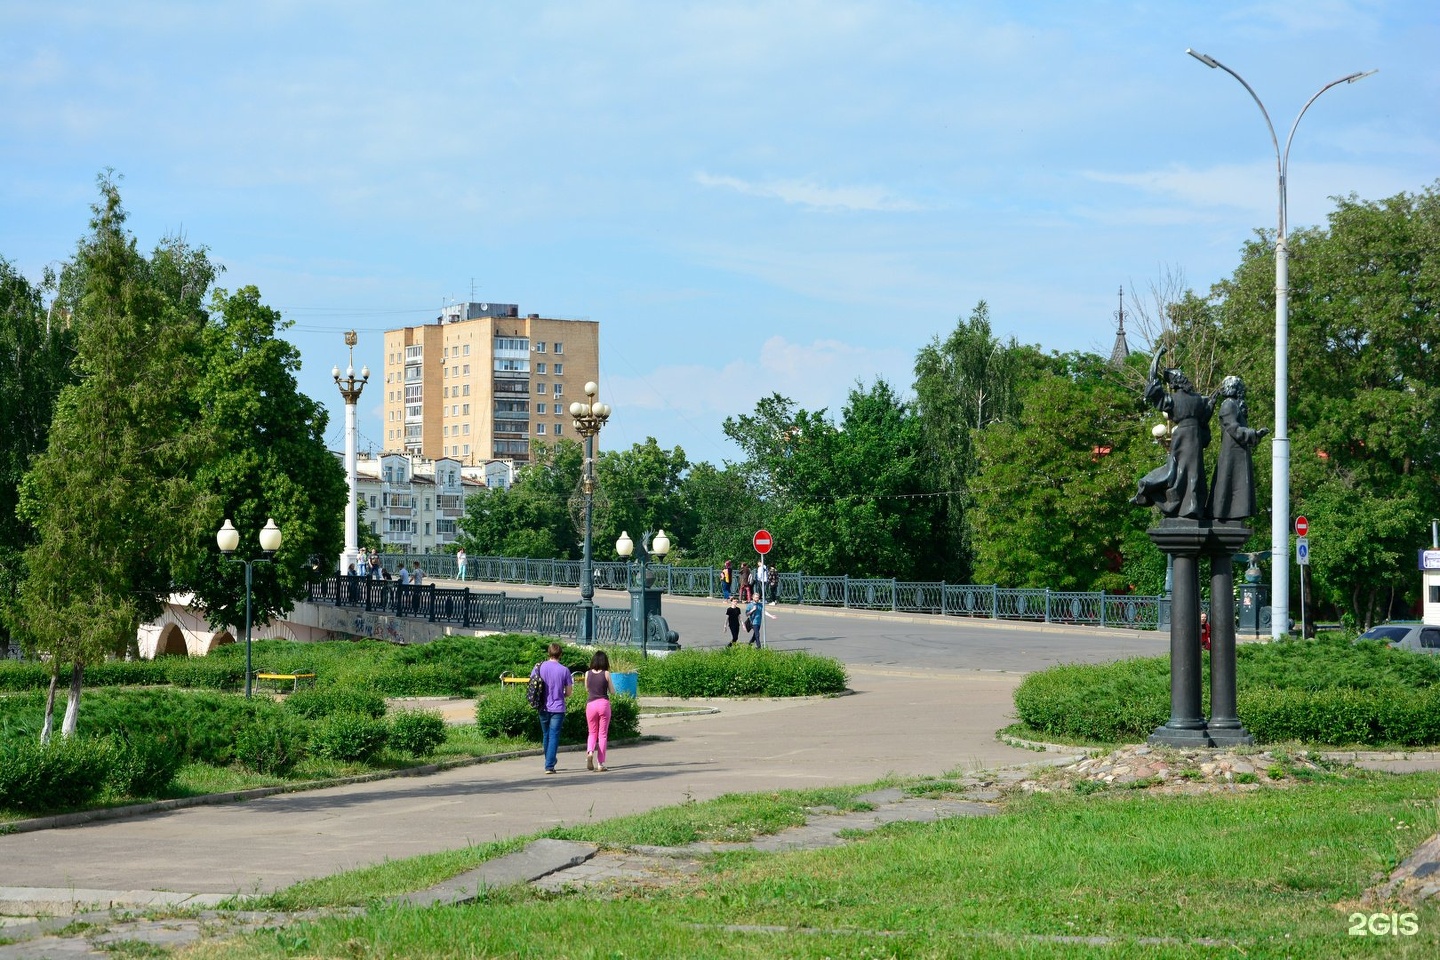
[[[753,646],[678,651],[639,668],[641,692],[651,697],[812,697],[842,692],[845,679],[832,658]]]

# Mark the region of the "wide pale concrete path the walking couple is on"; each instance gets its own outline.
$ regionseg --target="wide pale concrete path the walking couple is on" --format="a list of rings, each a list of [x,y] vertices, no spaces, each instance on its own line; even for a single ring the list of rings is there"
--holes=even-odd
[[[0,836],[3,882],[49,891],[253,894],[301,879],[556,825],[723,793],[867,783],[1035,760],[1007,747],[1015,674],[854,668],[835,698],[693,701],[717,714],[649,720],[665,737],[588,773],[566,753],[131,820]],[[0,891],[0,900],[4,892]],[[3,908],[3,904],[0,904]]]

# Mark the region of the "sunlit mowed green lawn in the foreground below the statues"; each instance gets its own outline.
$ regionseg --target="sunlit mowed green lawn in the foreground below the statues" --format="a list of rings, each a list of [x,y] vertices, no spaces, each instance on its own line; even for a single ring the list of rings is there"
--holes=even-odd
[[[1440,907],[1414,910],[1413,936],[1349,928],[1352,913],[1408,910],[1356,901],[1437,830],[1437,792],[1440,774],[1352,771],[1251,793],[1018,796],[999,816],[901,823],[824,851],[727,855],[678,887],[376,905],[180,956],[1434,957]],[[726,797],[586,833],[602,843],[739,835],[730,822],[799,799]]]

